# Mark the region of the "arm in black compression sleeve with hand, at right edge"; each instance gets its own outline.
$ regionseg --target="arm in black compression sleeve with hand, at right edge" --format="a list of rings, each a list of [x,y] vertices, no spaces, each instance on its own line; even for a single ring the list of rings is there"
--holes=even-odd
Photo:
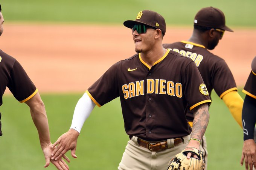
[[[256,99],[248,95],[245,96],[242,109],[242,120],[244,128],[244,146],[242,149],[241,165],[245,163],[245,168],[256,167],[256,144],[253,139],[253,131],[256,123]]]

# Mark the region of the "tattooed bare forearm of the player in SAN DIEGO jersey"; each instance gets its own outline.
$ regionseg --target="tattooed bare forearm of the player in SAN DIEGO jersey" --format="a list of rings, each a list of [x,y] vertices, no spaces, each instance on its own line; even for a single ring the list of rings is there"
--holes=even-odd
[[[195,147],[199,150],[200,142],[206,131],[209,122],[209,106],[207,103],[201,104],[193,109],[194,120],[191,132],[191,138],[187,147]],[[191,154],[187,154],[189,159]]]

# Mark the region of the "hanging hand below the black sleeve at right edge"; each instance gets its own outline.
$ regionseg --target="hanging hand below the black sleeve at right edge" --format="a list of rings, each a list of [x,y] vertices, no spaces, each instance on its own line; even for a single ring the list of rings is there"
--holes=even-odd
[[[245,169],[253,170],[253,166],[256,167],[256,144],[253,139],[247,139],[244,141],[242,149],[241,165],[245,164]]]

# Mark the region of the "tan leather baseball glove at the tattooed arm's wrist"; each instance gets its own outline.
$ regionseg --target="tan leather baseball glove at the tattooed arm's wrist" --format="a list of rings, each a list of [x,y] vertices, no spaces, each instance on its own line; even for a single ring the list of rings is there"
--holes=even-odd
[[[187,153],[191,152],[198,158],[191,157],[187,159]],[[180,153],[175,155],[169,162],[168,170],[203,170],[205,167],[203,153],[195,147],[186,147]]]

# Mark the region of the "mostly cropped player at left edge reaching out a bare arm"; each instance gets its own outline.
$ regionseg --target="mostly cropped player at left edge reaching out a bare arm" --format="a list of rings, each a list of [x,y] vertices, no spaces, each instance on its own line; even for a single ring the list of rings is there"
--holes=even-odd
[[[0,5],[0,35],[3,33],[3,22],[4,18]],[[49,166],[51,161],[59,170],[69,169],[68,165],[62,158],[58,161],[50,159],[53,149],[50,147],[52,144],[50,142],[48,120],[44,103],[41,100],[37,88],[32,83],[20,63],[0,50],[0,106],[3,104],[3,93],[5,92],[6,87],[9,88],[19,102],[26,103],[30,108],[31,117],[37,128],[41,148],[46,159],[44,167]],[[4,116],[4,114],[2,116]],[[2,123],[0,122],[0,136],[2,135]],[[63,158],[69,161],[65,155]]]

